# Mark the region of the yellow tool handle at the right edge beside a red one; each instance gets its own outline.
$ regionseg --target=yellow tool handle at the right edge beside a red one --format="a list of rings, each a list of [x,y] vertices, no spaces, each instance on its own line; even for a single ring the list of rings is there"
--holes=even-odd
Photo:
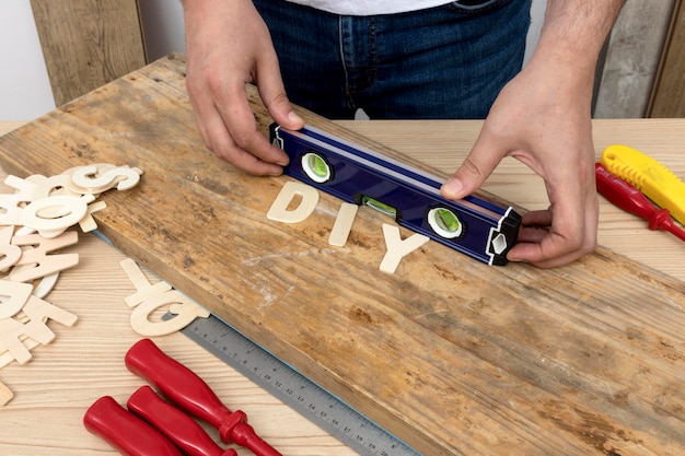
[[[609,173],[632,184],[685,224],[685,183],[651,156],[627,145],[609,145],[600,162]]]

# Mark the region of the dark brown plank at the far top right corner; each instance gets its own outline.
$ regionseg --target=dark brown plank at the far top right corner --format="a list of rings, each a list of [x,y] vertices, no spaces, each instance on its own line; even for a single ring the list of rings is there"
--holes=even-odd
[[[685,8],[676,0],[648,117],[685,117]]]

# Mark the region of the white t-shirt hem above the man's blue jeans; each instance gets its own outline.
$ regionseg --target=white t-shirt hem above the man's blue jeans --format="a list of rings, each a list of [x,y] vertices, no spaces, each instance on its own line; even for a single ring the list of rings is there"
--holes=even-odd
[[[405,13],[452,3],[445,0],[288,0],[317,10],[342,15]]]

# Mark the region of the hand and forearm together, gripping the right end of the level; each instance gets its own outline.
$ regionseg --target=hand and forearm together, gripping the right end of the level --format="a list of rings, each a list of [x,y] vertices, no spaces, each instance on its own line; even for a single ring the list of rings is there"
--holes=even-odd
[[[590,104],[596,58],[623,3],[549,0],[530,63],[499,94],[471,153],[442,188],[452,199],[472,194],[507,155],[545,180],[549,208],[523,217],[510,260],[555,267],[596,246]]]

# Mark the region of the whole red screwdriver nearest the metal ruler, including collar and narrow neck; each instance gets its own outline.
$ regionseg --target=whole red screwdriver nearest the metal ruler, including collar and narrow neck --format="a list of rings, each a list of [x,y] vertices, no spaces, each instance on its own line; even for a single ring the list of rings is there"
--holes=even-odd
[[[244,412],[231,412],[205,381],[166,355],[152,340],[136,342],[125,362],[129,371],[146,378],[169,400],[217,428],[222,442],[235,442],[257,456],[282,456],[255,433]]]

